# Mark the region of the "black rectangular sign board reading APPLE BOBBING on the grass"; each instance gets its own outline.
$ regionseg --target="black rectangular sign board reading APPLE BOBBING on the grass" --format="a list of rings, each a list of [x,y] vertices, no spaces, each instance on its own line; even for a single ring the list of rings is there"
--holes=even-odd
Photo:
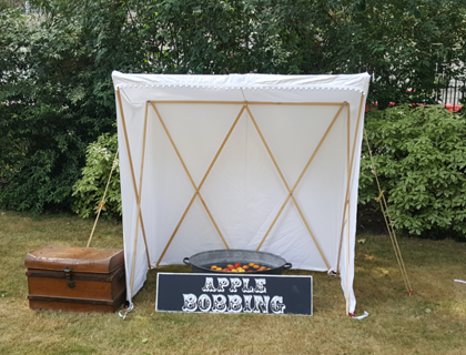
[[[312,276],[159,273],[155,311],[312,315]]]

